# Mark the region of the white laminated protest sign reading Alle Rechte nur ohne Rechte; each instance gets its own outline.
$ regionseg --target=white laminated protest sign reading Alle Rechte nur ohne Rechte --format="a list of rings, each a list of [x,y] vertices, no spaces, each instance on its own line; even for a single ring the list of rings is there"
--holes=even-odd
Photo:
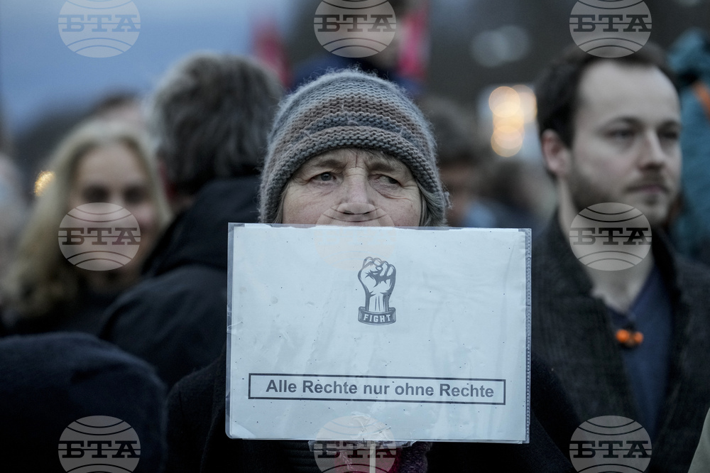
[[[397,441],[528,441],[529,231],[231,224],[229,251],[230,437],[365,416]]]

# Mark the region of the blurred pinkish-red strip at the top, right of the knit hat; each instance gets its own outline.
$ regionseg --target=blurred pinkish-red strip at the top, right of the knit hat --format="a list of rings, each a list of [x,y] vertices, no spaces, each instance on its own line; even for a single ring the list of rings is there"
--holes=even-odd
[[[397,69],[403,77],[424,83],[429,65],[429,0],[418,3],[398,21],[402,45]]]

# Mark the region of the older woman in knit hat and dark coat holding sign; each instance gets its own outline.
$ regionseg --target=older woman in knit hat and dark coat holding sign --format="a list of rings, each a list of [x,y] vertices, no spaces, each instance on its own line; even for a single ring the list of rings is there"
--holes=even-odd
[[[280,104],[261,177],[261,222],[442,227],[447,201],[430,126],[396,85],[358,71],[333,72]],[[395,268],[369,259],[359,277],[366,290],[371,288],[360,321],[391,322],[395,313],[388,295]],[[380,286],[384,289],[378,291]],[[572,471],[567,452],[579,423],[557,379],[535,358],[531,376],[528,445],[414,442],[333,450],[316,442],[311,450],[301,440],[226,436],[225,352],[170,394],[167,471],[217,472],[226,464],[244,472],[364,471],[349,469],[363,464],[369,471],[401,473]],[[288,380],[272,381],[273,391],[292,386]],[[329,388],[339,386],[334,382]],[[466,393],[474,392],[469,389]]]

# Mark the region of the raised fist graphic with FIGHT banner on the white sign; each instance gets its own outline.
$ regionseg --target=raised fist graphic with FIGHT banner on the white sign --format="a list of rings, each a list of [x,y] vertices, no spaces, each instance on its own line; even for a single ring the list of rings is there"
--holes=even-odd
[[[365,306],[358,320],[365,324],[386,325],[395,322],[395,309],[390,308],[390,295],[395,288],[395,267],[387,261],[368,256],[357,274],[365,290]]]

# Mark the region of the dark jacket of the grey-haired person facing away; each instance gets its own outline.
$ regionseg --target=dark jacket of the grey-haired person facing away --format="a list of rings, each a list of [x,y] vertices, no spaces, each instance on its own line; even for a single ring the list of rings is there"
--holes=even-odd
[[[205,185],[107,310],[101,337],[153,364],[169,387],[219,357],[226,340],[229,222],[256,222],[257,177]]]

